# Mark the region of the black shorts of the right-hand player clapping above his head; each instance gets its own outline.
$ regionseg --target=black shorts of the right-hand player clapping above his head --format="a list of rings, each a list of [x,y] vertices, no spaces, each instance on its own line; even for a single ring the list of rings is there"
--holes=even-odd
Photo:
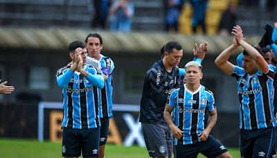
[[[274,155],[275,144],[275,128],[240,130],[240,154],[244,158]]]

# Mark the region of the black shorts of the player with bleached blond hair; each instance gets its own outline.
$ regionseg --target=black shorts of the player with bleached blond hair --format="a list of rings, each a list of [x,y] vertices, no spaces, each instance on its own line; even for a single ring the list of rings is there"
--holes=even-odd
[[[220,141],[211,135],[209,135],[206,141],[200,141],[189,145],[175,145],[175,150],[177,157],[191,158],[196,158],[199,153],[202,153],[205,157],[217,157],[228,151]]]

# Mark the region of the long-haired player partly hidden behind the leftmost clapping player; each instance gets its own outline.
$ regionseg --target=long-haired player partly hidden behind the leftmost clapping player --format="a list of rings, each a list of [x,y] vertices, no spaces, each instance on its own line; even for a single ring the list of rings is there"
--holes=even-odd
[[[85,44],[89,53],[89,57],[100,62],[102,76],[105,80],[103,89],[98,89],[99,112],[101,121],[100,127],[100,153],[99,157],[105,156],[105,144],[107,143],[107,134],[109,128],[109,119],[112,114],[112,72],[114,71],[114,62],[111,58],[101,54],[103,43],[102,37],[98,33],[90,33],[87,35]]]

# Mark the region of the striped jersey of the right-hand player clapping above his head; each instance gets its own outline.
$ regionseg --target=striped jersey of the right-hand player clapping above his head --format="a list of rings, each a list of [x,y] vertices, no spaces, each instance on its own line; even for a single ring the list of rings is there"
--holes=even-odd
[[[235,66],[232,75],[238,83],[240,100],[240,129],[256,130],[276,127],[274,114],[274,76],[257,71],[253,75]]]

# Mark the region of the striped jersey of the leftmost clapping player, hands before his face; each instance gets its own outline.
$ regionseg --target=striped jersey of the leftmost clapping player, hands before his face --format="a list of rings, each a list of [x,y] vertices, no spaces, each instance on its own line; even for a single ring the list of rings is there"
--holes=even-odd
[[[85,65],[86,78],[70,67],[57,71],[57,84],[62,88],[64,117],[62,127],[84,129],[100,126],[98,90],[104,85],[101,70]]]

